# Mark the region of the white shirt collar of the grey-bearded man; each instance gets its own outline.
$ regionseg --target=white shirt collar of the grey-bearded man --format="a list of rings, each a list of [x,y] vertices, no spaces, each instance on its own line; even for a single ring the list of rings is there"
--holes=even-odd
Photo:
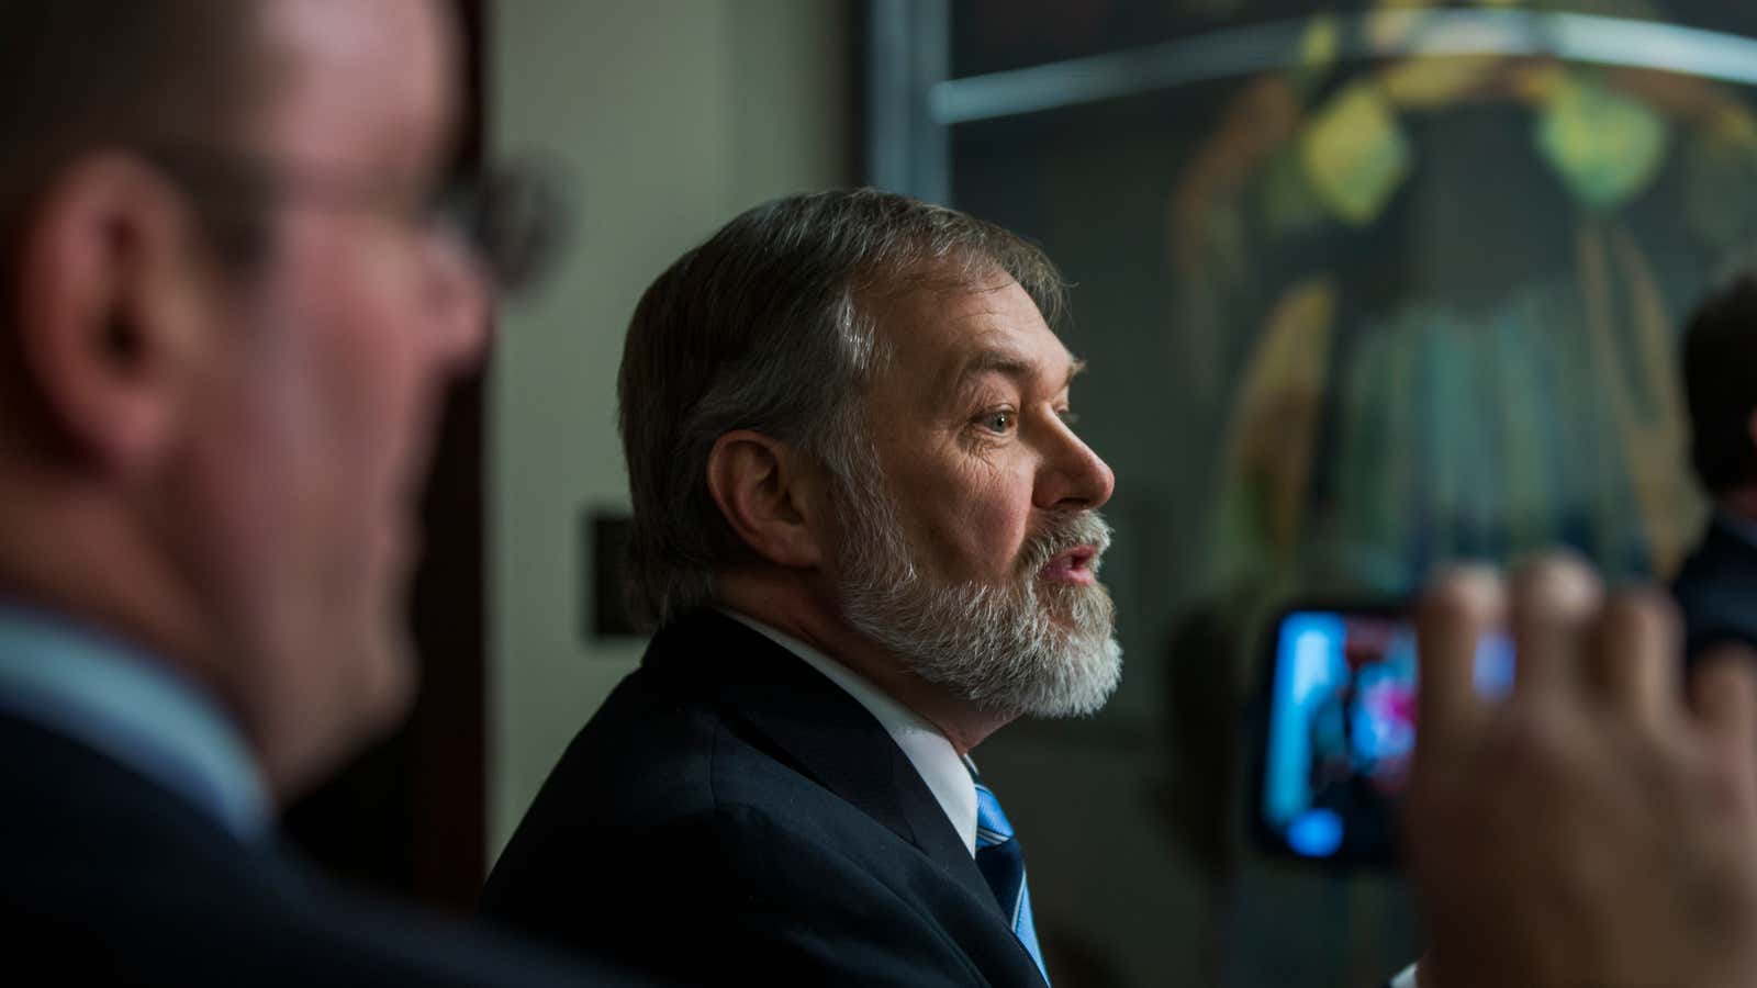
[[[965,766],[965,759],[958,756],[958,749],[952,747],[952,742],[947,740],[938,728],[928,723],[921,714],[915,714],[908,707],[898,703],[889,693],[873,686],[866,677],[856,673],[849,666],[831,659],[792,635],[777,631],[775,628],[734,610],[724,610],[724,614],[745,628],[763,635],[770,642],[775,642],[782,649],[787,649],[805,661],[805,665],[824,673],[829,682],[840,686],[843,693],[864,707],[866,712],[871,714],[880,726],[884,726],[886,733],[891,735],[896,747],[903,749],[903,756],[915,766],[915,774],[921,775],[921,781],[928,784],[928,791],[933,793],[933,800],[940,803],[940,810],[945,812],[945,819],[952,823],[952,828],[965,842],[965,847],[972,856],[975,856],[975,779],[970,775],[970,768]]]

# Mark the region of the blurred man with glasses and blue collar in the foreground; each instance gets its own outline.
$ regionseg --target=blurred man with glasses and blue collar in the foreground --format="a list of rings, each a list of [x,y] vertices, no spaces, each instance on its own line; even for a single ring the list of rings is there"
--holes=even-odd
[[[425,0],[0,0],[0,925],[93,984],[578,984],[325,888],[276,803],[394,724],[485,257]]]

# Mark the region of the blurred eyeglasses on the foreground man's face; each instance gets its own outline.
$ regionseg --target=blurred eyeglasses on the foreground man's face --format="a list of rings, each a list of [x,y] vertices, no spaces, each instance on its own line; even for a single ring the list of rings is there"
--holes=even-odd
[[[503,295],[525,294],[555,267],[573,227],[557,172],[538,162],[455,174],[445,183],[290,171],[249,155],[148,146],[141,153],[190,192],[255,220],[276,202],[376,209],[422,230],[452,230],[481,260]]]

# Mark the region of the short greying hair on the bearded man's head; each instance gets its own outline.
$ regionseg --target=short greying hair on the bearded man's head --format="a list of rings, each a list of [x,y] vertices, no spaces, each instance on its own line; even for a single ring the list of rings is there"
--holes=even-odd
[[[664,624],[752,561],[708,492],[715,441],[752,429],[859,473],[859,410],[887,360],[875,309],[922,288],[1007,276],[1056,323],[1065,283],[993,223],[870,188],[792,195],[734,218],[641,295],[617,380],[634,524],[629,605]]]

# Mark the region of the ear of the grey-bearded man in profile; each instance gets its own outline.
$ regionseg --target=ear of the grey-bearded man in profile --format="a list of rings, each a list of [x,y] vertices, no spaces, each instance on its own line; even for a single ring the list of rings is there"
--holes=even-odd
[[[787,443],[740,429],[708,454],[708,492],[763,559],[810,568],[826,557],[822,469]]]

